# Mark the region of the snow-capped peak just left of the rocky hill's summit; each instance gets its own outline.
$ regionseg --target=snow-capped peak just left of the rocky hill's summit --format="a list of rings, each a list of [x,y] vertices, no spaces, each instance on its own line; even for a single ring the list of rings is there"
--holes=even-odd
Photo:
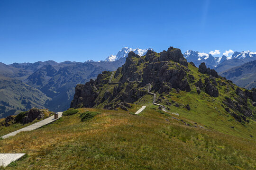
[[[128,48],[128,47],[124,47],[122,48],[118,53],[117,55],[110,55],[107,59],[105,59],[104,61],[116,61],[118,59],[121,59],[121,58],[124,58],[124,57],[127,57],[128,56],[128,53],[130,51],[133,51],[135,52],[136,54],[138,54],[139,56],[143,56],[143,55],[146,55],[146,51],[148,50],[152,50],[154,51],[152,48],[148,48],[148,49],[132,49],[132,48]]]

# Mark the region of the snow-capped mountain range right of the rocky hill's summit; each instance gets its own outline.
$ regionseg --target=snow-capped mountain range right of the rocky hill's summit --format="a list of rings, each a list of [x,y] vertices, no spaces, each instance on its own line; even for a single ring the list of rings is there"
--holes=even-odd
[[[251,52],[251,51],[242,51],[242,52],[236,51],[231,56],[223,55],[222,57],[213,57],[211,54],[208,54],[208,53],[188,50],[183,55],[188,62],[192,61],[197,67],[202,62],[204,62],[207,67],[216,68],[217,71],[224,71],[223,69],[229,69],[231,68],[231,66],[233,67],[239,66],[246,62],[256,59],[256,52]],[[230,66],[226,68],[227,65],[230,65]],[[218,70],[218,68],[221,68],[221,69]]]

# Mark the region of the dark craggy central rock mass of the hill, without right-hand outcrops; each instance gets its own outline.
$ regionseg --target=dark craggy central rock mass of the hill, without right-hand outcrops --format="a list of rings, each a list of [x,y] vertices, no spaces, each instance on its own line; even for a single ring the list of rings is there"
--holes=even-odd
[[[174,62],[170,63],[170,61]],[[138,66],[143,66],[143,69],[138,70]],[[107,72],[103,72],[95,81],[90,80],[84,86],[76,86],[71,107],[93,107],[107,100],[108,102],[136,102],[146,95],[147,91],[134,88],[133,81],[141,82],[141,85],[144,86],[151,83],[152,90],[160,93],[168,92],[172,88],[189,92],[191,88],[186,77],[187,66],[188,63],[180,49],[173,47],[161,53],[148,50],[144,58],[131,51],[128,53],[125,64],[116,71],[114,78],[122,76],[119,79],[119,84],[114,86],[113,93],[106,91],[101,99],[98,97],[101,84],[108,83],[104,77]],[[121,91],[123,93],[120,93]],[[107,108],[111,108],[111,106]]]

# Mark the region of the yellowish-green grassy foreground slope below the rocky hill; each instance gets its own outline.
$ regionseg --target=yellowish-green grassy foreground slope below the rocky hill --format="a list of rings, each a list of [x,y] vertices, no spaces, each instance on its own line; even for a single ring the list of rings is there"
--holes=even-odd
[[[52,124],[0,140],[1,153],[27,153],[6,170],[254,170],[256,142],[210,128],[185,126],[147,107],[79,109]],[[135,112],[134,105],[131,111]],[[100,114],[81,121],[80,114]],[[176,116],[178,119],[178,116]],[[185,122],[193,122],[183,119]],[[193,124],[195,125],[195,124]],[[1,168],[0,168],[1,169]],[[2,168],[3,169],[3,168]]]

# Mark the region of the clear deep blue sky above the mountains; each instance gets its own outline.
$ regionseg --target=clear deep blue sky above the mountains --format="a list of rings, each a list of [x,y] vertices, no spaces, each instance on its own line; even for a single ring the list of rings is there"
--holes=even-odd
[[[0,0],[0,62],[97,61],[125,46],[256,51],[255,9],[256,0]]]

